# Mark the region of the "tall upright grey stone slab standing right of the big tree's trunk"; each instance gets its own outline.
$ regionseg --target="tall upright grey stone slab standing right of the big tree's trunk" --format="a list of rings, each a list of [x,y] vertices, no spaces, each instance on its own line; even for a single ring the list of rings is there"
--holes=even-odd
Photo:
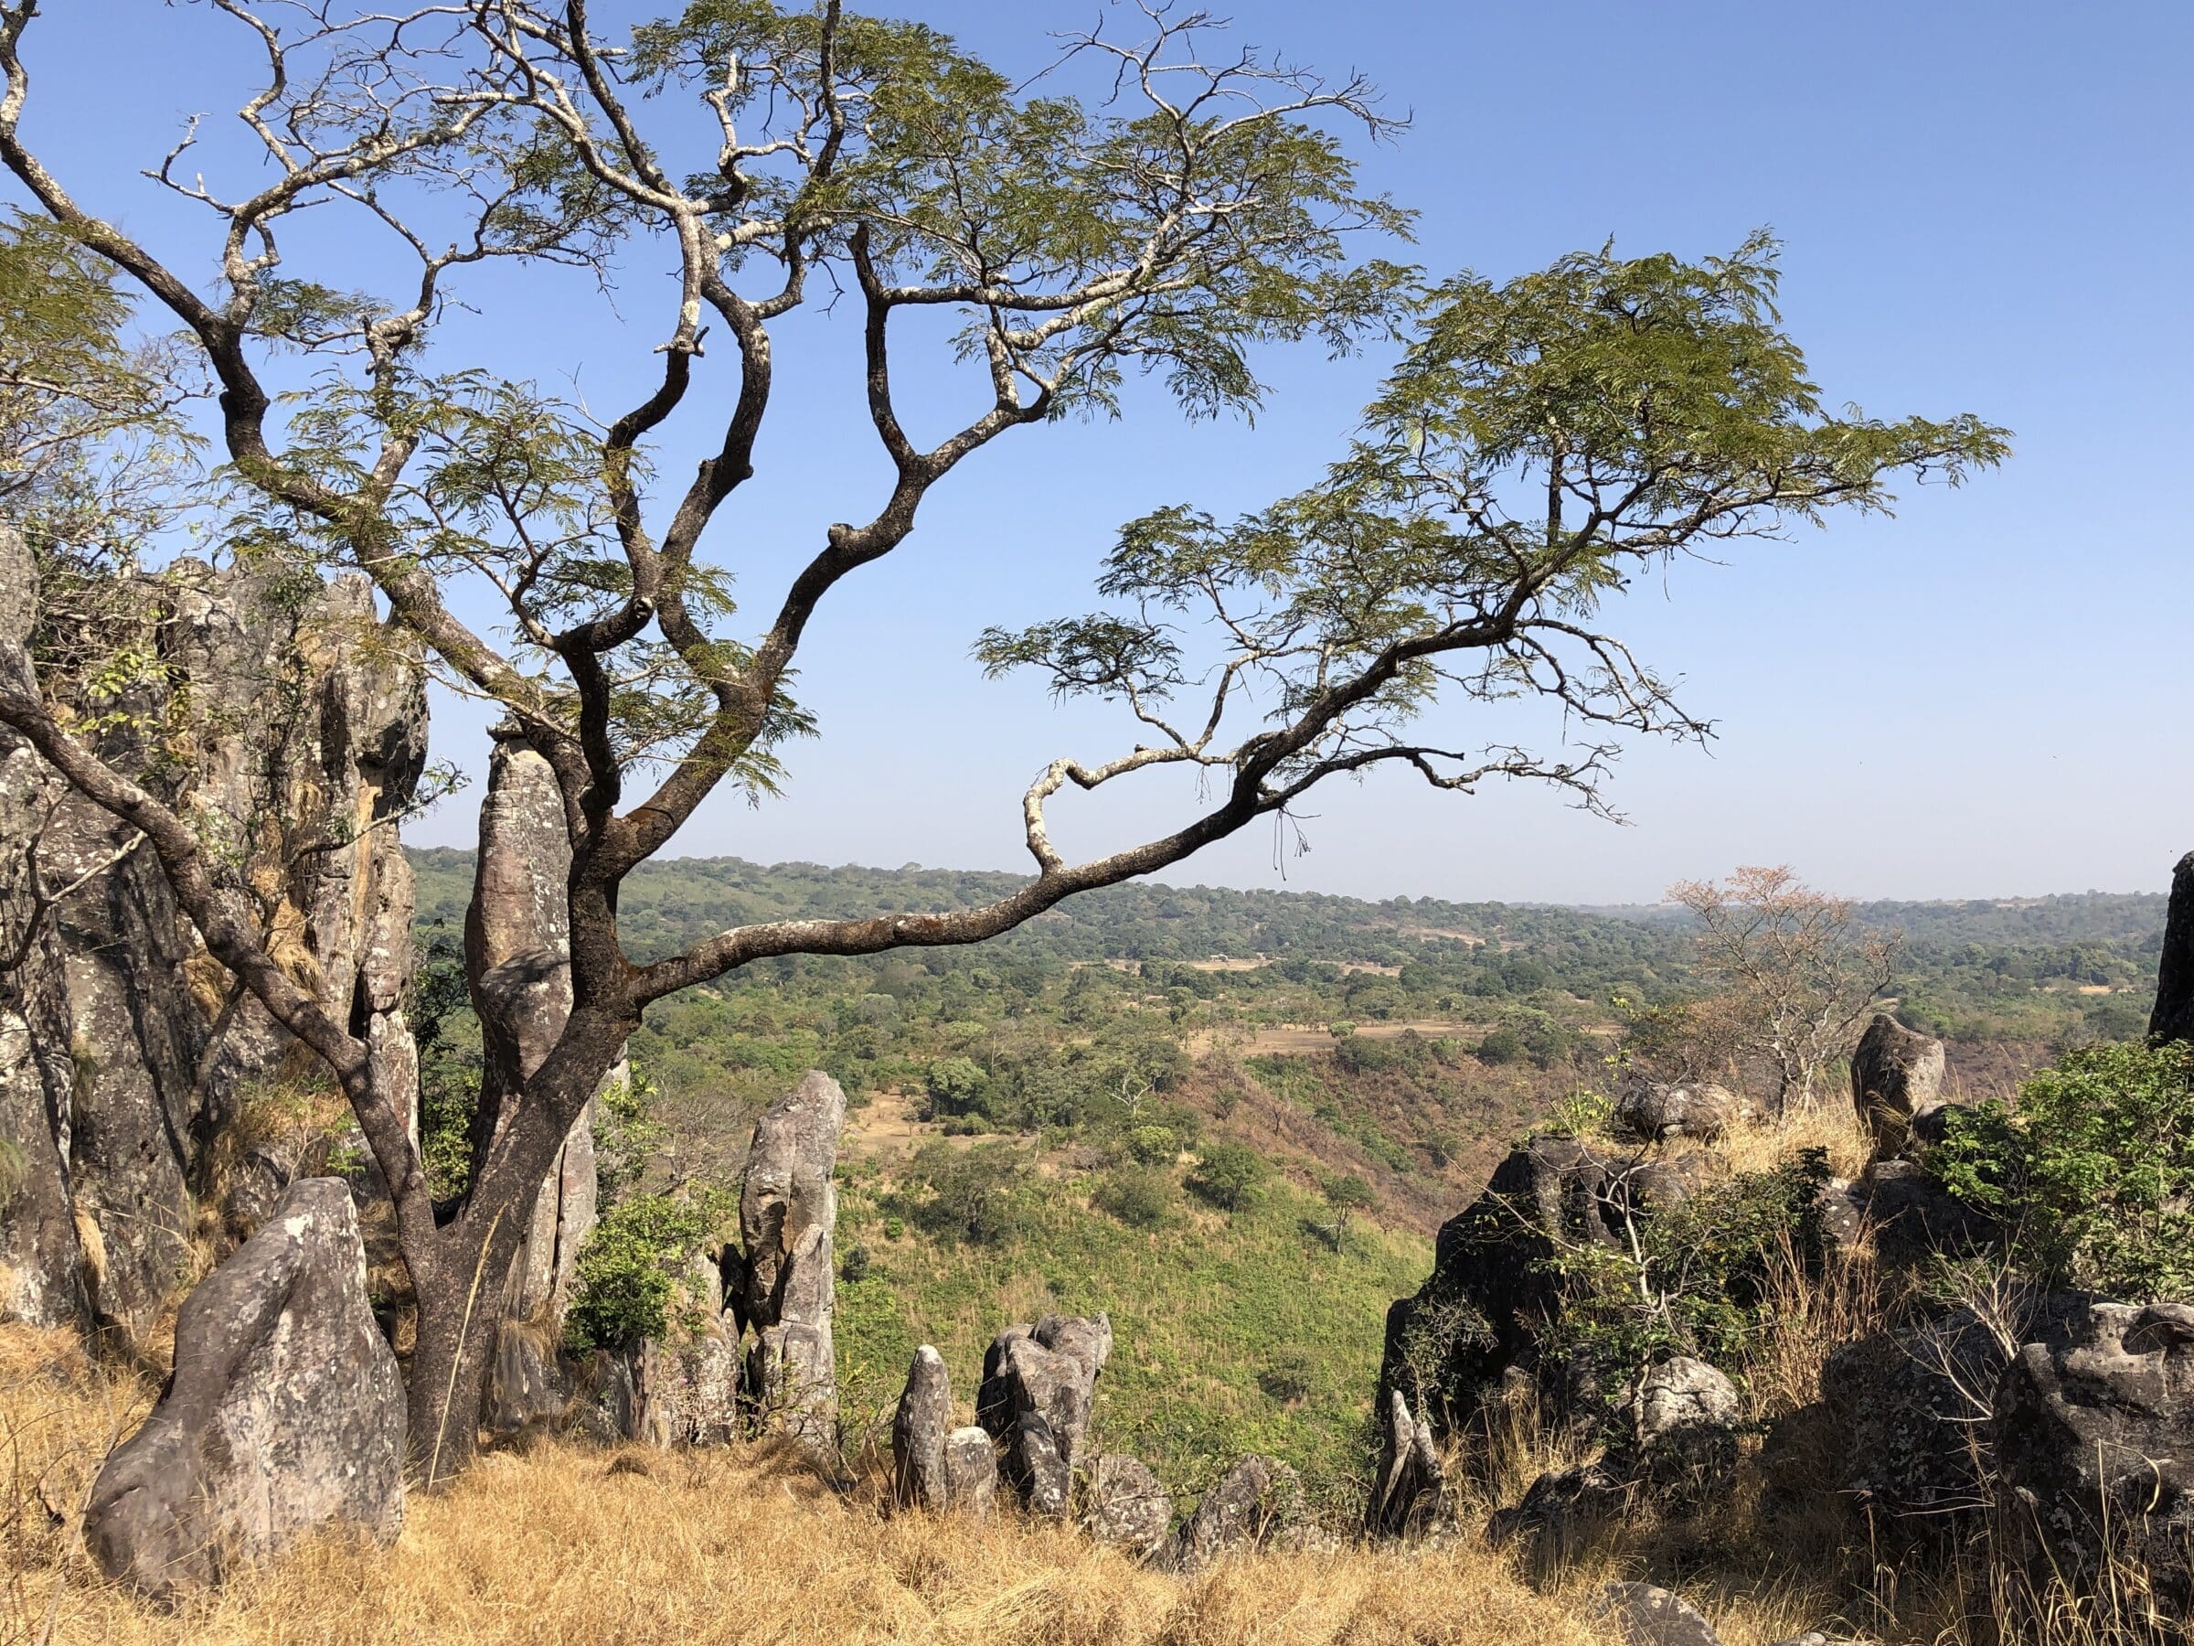
[[[838,1409],[832,1297],[838,1284],[838,1132],[845,1091],[821,1069],[755,1121],[739,1192],[746,1321],[755,1330],[746,1391],[764,1427],[827,1446]]]

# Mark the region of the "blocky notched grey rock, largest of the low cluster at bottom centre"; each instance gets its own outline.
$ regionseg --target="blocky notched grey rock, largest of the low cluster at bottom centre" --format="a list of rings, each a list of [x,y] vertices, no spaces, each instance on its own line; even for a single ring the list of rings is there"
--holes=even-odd
[[[1038,1514],[1064,1514],[1088,1435],[1097,1374],[1112,1354],[1106,1315],[1007,1326],[983,1354],[974,1420],[1005,1446],[1005,1477]]]

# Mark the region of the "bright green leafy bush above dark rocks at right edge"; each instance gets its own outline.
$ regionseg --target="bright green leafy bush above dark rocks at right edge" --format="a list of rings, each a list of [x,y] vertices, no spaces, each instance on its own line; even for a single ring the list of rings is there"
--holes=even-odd
[[[2047,1284],[2194,1299],[2194,1045],[2102,1045],[1946,1111],[1929,1168]]]

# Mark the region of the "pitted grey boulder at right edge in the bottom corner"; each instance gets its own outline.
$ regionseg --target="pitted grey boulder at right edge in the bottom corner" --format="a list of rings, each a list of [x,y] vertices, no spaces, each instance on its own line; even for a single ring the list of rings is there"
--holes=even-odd
[[[1990,1438],[2038,1580],[2093,1593],[2130,1556],[2163,1615],[2194,1622],[2194,1306],[2060,1308],[2005,1365]]]

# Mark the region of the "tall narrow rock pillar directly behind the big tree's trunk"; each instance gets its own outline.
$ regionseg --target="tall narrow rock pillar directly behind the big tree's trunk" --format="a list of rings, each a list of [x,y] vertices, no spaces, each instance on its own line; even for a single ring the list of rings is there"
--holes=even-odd
[[[570,1016],[570,841],[548,762],[511,726],[496,729],[480,801],[480,856],[465,911],[465,963],[480,1018],[476,1146],[509,1121],[524,1082]],[[621,1082],[623,1069],[610,1073]],[[502,1282],[502,1319],[487,1378],[485,1422],[509,1433],[559,1416],[570,1378],[559,1363],[579,1242],[595,1227],[595,1106],[557,1150],[533,1222]],[[671,1422],[676,1422],[671,1418]]]

